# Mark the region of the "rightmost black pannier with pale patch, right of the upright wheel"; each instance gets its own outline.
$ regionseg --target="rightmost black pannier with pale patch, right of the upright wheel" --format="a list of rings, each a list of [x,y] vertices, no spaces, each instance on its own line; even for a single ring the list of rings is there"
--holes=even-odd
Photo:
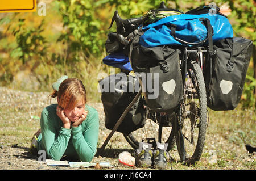
[[[215,111],[233,110],[240,102],[253,41],[234,37],[213,44],[216,57],[204,71],[207,106]]]

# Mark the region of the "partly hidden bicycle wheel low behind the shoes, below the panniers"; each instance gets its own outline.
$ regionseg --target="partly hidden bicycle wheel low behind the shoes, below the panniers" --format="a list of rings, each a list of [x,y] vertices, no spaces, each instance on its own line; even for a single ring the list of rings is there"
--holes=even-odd
[[[146,120],[146,124],[143,128],[137,129],[129,134],[123,133],[123,136],[133,149],[138,149],[139,142],[142,141],[150,142],[153,144],[153,148],[155,148],[155,141],[158,141],[168,143],[167,151],[170,151],[175,144],[175,131],[171,127],[175,119],[177,119],[175,113],[166,116],[158,116],[156,113],[153,113],[151,117]]]

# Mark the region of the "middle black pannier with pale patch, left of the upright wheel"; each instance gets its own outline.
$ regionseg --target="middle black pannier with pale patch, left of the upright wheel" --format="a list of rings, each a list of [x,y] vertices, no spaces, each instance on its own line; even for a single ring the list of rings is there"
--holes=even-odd
[[[183,94],[180,51],[167,45],[150,48],[139,45],[142,33],[139,30],[130,45],[131,66],[140,79],[148,108],[158,112],[172,112]]]

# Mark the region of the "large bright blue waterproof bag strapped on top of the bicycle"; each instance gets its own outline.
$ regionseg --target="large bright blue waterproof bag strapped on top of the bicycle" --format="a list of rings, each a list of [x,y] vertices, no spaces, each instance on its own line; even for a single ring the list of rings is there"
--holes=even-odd
[[[191,47],[193,44],[204,41],[207,38],[207,27],[201,18],[209,19],[210,25],[213,28],[213,42],[233,37],[232,26],[225,16],[210,13],[200,15],[181,14],[168,16],[143,27],[144,34],[140,37],[139,44],[144,47],[160,45],[184,45]],[[175,29],[172,29],[174,26]],[[172,30],[175,30],[175,32],[172,32]],[[178,39],[191,44],[177,41],[174,35]],[[204,41],[203,44],[207,44],[207,41]]]

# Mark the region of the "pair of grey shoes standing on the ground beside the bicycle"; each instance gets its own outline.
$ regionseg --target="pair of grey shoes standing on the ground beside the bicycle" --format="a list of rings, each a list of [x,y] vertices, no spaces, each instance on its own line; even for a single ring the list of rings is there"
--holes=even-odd
[[[140,142],[135,150],[135,164],[137,166],[154,166],[158,169],[166,169],[169,161],[169,153],[166,151],[168,144],[156,142],[156,149],[151,150],[152,144]]]

